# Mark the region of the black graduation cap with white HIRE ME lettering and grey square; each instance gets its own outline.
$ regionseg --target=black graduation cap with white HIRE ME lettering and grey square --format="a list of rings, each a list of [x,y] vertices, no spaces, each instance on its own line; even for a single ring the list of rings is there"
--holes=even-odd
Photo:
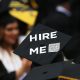
[[[71,37],[64,33],[38,24],[14,53],[45,65],[54,60],[70,39]]]

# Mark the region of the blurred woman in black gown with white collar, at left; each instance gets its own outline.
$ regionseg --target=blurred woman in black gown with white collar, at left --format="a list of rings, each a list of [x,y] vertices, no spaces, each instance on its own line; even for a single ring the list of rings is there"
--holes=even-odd
[[[18,22],[7,12],[0,16],[0,80],[23,80],[32,62],[13,51],[18,44]]]

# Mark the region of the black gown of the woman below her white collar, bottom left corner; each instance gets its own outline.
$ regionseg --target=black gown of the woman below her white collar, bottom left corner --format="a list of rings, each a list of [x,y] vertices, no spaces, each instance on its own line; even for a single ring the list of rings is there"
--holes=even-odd
[[[8,73],[0,61],[0,80],[16,80],[15,72]]]

